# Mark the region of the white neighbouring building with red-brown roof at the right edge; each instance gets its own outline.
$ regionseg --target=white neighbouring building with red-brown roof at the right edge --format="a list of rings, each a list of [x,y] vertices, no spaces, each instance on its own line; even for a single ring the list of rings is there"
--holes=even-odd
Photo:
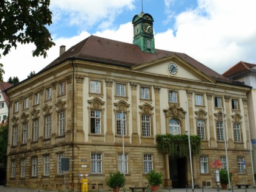
[[[249,128],[252,141],[252,157],[254,164],[254,172],[256,171],[256,65],[246,62],[238,62],[228,69],[223,76],[236,80],[238,83],[246,84],[252,87],[247,94],[248,99],[248,115]]]

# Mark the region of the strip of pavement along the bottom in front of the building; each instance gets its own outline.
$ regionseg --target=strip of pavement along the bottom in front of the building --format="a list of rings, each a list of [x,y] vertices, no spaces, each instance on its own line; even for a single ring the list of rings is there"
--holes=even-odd
[[[43,192],[44,190],[35,190],[35,189],[29,189],[29,188],[12,188],[12,187],[3,187],[3,186],[0,186],[0,192]],[[138,190],[140,191],[140,190]],[[191,189],[191,188],[188,188],[188,189],[185,189],[185,188],[182,188],[182,189],[171,189],[171,190],[163,190],[163,189],[160,189],[158,190],[158,192],[225,192],[225,191],[234,191],[234,192],[256,192],[256,189],[255,188],[241,188],[241,189],[238,189],[236,187],[233,187],[233,189],[230,189],[230,190],[222,190],[222,189],[219,189],[217,190],[216,188],[197,188],[197,189],[194,189],[194,191]],[[48,192],[57,192],[57,191],[48,191]],[[61,191],[63,192],[63,191]],[[68,191],[66,190],[66,192],[71,192],[71,191]],[[74,192],[80,192],[80,191],[74,191]],[[93,192],[93,191],[89,191],[89,192]],[[112,191],[103,191],[103,190],[99,190],[99,191],[95,191],[95,192],[112,192]],[[120,190],[120,192],[124,192],[123,190]],[[130,192],[130,191],[129,191]],[[150,192],[148,190],[148,192]]]

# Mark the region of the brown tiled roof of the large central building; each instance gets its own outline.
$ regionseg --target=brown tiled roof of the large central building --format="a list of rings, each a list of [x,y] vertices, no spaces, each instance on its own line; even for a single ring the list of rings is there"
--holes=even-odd
[[[42,71],[71,58],[80,60],[91,60],[94,62],[104,63],[106,65],[116,65],[130,68],[135,65],[153,62],[154,60],[168,57],[174,54],[178,55],[181,59],[190,63],[190,65],[194,66],[202,73],[206,74],[209,77],[212,77],[212,79],[219,82],[234,84],[232,80],[227,79],[221,74],[216,73],[202,63],[197,62],[187,54],[165,51],[161,49],[155,49],[155,54],[151,54],[141,51],[136,44],[110,40],[94,35],[91,35],[85,40],[82,40],[72,46],[70,49],[60,55],[59,58],[55,59],[48,66],[46,66]]]

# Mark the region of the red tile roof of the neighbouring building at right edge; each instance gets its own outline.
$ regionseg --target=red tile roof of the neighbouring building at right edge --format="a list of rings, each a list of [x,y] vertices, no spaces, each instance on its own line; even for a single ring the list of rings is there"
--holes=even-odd
[[[236,65],[232,66],[230,69],[228,69],[225,73],[222,74],[222,76],[232,78],[240,74],[249,73],[251,71],[251,68],[254,66],[256,65],[241,61],[236,63]]]

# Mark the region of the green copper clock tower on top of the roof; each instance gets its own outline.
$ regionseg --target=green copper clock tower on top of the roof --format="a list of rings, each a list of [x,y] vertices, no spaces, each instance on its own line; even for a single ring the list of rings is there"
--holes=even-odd
[[[148,13],[133,16],[133,44],[137,44],[141,51],[155,53],[153,22]]]

